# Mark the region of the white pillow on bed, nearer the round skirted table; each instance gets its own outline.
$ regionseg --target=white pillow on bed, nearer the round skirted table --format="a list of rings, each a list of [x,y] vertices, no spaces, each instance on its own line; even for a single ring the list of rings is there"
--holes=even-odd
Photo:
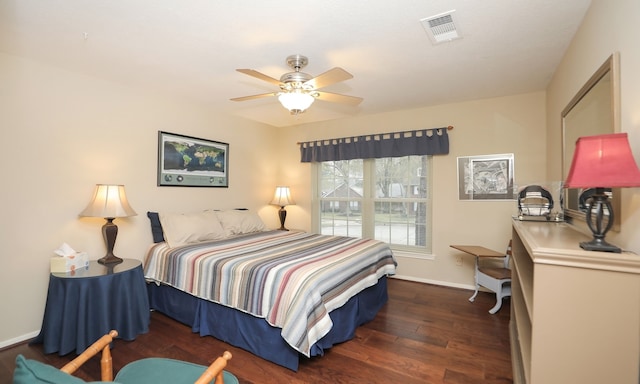
[[[165,213],[159,212],[164,240],[169,247],[201,241],[224,239],[225,231],[215,212]]]

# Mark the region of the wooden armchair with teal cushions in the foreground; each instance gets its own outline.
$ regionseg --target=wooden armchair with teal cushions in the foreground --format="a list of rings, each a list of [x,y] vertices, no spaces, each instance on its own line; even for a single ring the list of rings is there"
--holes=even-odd
[[[211,383],[212,380],[215,379],[215,384],[238,384],[238,379],[230,372],[224,370],[228,361],[231,359],[231,353],[228,351],[225,351],[221,357],[218,357],[208,367],[165,358],[152,357],[141,359],[133,361],[122,367],[114,379],[110,344],[117,336],[118,332],[115,330],[112,330],[108,334],[102,336],[75,359],[60,368],[60,372],[71,375],[87,360],[102,351],[102,356],[100,358],[100,376],[102,381],[112,381],[120,384],[206,384]],[[53,369],[53,367],[47,366],[46,364],[33,360],[26,360],[22,356],[18,356],[16,362],[18,365],[14,372],[14,383],[67,382],[64,380],[64,377],[61,377],[60,380],[56,381],[52,376],[58,377],[58,375],[52,374],[50,369]],[[25,368],[25,364],[30,364],[30,366]],[[46,381],[39,381],[42,377],[45,378]],[[67,377],[71,378],[70,376]],[[72,379],[74,380],[74,383],[78,380],[77,378]]]

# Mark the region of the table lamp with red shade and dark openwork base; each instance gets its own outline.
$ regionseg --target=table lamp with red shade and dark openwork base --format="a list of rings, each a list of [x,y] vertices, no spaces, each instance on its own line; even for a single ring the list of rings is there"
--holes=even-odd
[[[607,243],[605,234],[613,225],[613,207],[605,188],[640,187],[640,170],[636,164],[626,133],[580,137],[576,141],[565,188],[595,188],[590,198],[586,219],[593,240],[580,243],[591,251],[620,252]],[[604,223],[606,213],[608,219]]]

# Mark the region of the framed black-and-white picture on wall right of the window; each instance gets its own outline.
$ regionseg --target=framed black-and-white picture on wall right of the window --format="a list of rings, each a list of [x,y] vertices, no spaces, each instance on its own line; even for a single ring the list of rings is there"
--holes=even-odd
[[[458,157],[459,200],[516,200],[513,153]]]

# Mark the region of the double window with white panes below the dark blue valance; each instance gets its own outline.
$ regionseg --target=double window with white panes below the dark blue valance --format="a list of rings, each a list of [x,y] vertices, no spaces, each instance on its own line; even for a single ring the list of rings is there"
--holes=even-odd
[[[430,156],[314,163],[317,232],[431,250]]]

